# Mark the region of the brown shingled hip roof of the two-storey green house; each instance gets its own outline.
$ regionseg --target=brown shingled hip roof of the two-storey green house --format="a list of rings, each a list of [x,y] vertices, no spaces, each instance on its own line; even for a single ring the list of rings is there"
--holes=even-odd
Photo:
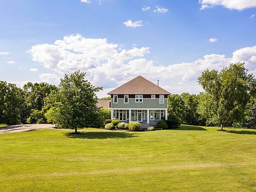
[[[128,81],[126,84],[109,92],[112,94],[171,94],[170,92],[153,84],[142,76],[137,76],[133,80]]]

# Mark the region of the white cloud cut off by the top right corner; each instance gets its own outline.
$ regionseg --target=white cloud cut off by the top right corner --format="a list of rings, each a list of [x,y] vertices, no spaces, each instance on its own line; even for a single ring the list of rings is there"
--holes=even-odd
[[[199,0],[202,5],[216,6],[220,5],[228,9],[243,10],[256,7],[256,0]]]

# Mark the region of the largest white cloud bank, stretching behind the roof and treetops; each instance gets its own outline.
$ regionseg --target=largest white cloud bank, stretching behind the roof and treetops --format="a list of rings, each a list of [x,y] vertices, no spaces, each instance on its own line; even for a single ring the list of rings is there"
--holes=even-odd
[[[196,78],[206,69],[220,70],[230,63],[245,62],[250,72],[256,71],[256,46],[241,48],[231,58],[210,54],[189,63],[159,65],[144,58],[148,47],[124,49],[106,39],[90,39],[81,35],[64,36],[53,44],[38,44],[29,50],[32,59],[43,64],[52,73],[41,74],[44,82],[57,84],[64,73],[77,69],[86,72],[86,78],[95,86],[103,86],[104,96],[112,88],[136,76],[156,82],[170,92],[197,93]]]

